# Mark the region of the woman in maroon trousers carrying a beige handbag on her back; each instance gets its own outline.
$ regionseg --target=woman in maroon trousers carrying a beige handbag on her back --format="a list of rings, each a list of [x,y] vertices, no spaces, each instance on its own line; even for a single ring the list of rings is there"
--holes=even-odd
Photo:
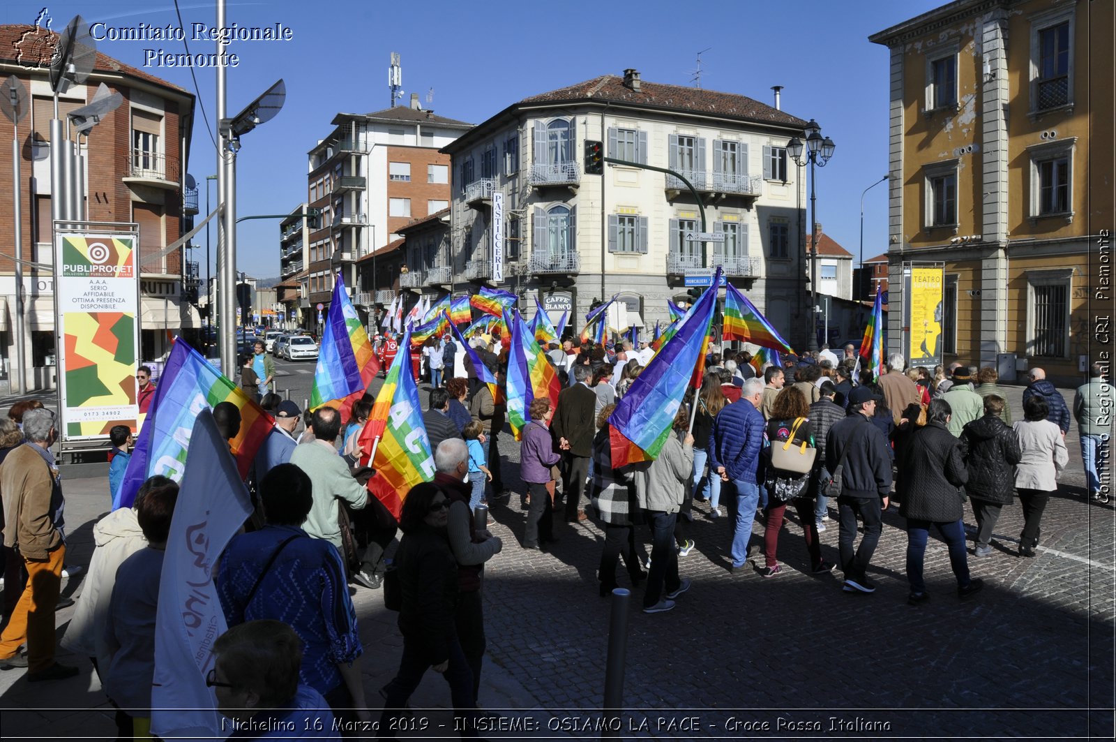
[[[814,502],[806,488],[814,468],[817,449],[814,445],[814,429],[808,415],[806,397],[796,387],[786,387],[775,398],[771,419],[768,420],[767,437],[771,445],[763,455],[767,474],[764,486],[768,504],[764,508],[763,568],[760,574],[775,577],[782,571],[776,559],[779,546],[779,531],[787,504],[793,502],[798,519],[802,523],[806,551],[810,554],[810,571],[825,574],[834,564],[821,559],[818,542],[818,526],[814,517]]]

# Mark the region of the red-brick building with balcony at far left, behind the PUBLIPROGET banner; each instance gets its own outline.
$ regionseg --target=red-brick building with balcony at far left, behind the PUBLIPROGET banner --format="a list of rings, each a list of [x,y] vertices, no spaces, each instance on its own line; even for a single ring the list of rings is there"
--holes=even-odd
[[[35,26],[0,26],[0,77],[16,76],[29,94],[30,110],[16,127],[20,143],[20,228],[25,261],[22,302],[17,297],[13,193],[11,179],[0,179],[0,352],[9,388],[11,374],[22,372],[28,389],[52,389],[57,383],[54,307],[54,236],[51,221],[50,120],[54,93],[47,66],[16,59],[28,31],[57,35]],[[33,60],[32,60],[33,61]],[[80,85],[59,95],[62,121],[85,106],[104,83],[124,102],[80,135],[85,159],[85,218],[93,222],[134,222],[140,229],[140,327],[143,360],[158,360],[171,337],[200,324],[196,308],[198,266],[184,260],[182,248],[161,255],[192,228],[198,190],[187,185],[194,97],[186,91],[141,69],[97,54],[93,72]],[[11,131],[10,129],[6,131]],[[12,172],[10,140],[0,146],[0,172]],[[25,368],[16,369],[15,313],[23,312]]]

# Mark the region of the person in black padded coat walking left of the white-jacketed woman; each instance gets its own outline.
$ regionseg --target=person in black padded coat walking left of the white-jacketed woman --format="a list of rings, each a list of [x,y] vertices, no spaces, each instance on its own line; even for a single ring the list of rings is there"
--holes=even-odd
[[[1002,397],[989,394],[984,398],[984,417],[961,430],[961,458],[969,469],[965,492],[972,498],[977,517],[975,556],[992,555],[992,529],[1000,519],[1000,510],[1011,504],[1016,493],[1014,466],[1022,457],[1016,431],[1000,417],[1003,405]]]

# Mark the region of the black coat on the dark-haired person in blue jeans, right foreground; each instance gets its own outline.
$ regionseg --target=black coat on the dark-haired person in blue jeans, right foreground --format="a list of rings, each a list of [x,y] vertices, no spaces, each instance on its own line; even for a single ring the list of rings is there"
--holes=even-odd
[[[915,521],[953,523],[964,514],[960,487],[969,482],[961,445],[944,425],[927,422],[912,434],[899,467],[904,492],[899,515]]]

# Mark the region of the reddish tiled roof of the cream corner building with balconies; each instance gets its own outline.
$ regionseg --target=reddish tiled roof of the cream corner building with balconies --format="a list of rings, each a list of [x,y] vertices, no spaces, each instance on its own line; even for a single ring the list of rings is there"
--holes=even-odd
[[[616,75],[602,75],[584,83],[558,88],[557,91],[532,95],[520,101],[518,105],[561,101],[573,102],[587,98],[632,105],[644,104],[663,108],[680,108],[694,113],[716,114],[760,123],[786,124],[788,126],[806,125],[806,122],[797,116],[735,93],[720,93],[700,87],[664,85],[646,80],[639,82],[639,91],[636,92],[626,87],[624,78]]]

